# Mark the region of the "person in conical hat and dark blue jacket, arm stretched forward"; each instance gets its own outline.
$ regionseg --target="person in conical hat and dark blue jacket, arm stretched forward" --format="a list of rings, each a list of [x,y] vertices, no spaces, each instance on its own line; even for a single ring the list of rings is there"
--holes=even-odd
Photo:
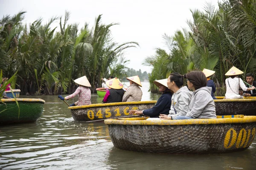
[[[172,91],[167,87],[167,79],[160,79],[154,81],[154,84],[159,88],[159,91],[162,92],[162,96],[157,100],[156,105],[153,108],[145,109],[143,111],[129,111],[130,114],[144,114],[150,116],[151,118],[157,118],[160,114],[169,114],[171,107]],[[126,92],[125,92],[126,93]]]

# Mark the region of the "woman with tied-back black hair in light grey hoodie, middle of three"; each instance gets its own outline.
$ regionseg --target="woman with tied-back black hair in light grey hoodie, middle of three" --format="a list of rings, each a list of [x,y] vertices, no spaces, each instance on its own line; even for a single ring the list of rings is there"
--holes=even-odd
[[[168,88],[174,92],[172,95],[171,109],[168,115],[160,114],[160,119],[172,120],[176,116],[186,116],[189,111],[189,104],[192,92],[186,86],[183,86],[183,75],[171,73],[168,77]]]

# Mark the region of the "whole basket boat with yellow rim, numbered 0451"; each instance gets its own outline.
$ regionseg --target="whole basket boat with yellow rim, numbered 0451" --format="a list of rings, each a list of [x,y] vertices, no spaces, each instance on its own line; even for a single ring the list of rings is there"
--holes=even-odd
[[[156,100],[143,102],[116,102],[68,107],[76,121],[92,121],[129,116],[130,110],[152,108]]]

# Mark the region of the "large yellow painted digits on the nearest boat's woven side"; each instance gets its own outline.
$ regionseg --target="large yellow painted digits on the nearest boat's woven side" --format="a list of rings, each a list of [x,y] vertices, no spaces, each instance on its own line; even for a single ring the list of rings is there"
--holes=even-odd
[[[232,138],[230,141],[230,137],[231,137],[231,131],[232,131]],[[225,139],[224,139],[224,147],[226,149],[232,147],[235,143],[236,143],[236,148],[240,148],[240,147],[249,147],[250,144],[253,142],[254,136],[255,136],[255,132],[256,129],[255,127],[253,128],[253,130],[245,130],[244,128],[242,128],[237,136],[236,130],[234,130],[233,128],[230,128],[230,130],[227,131]],[[251,138],[250,138],[251,136]],[[250,140],[250,142],[249,142]]]

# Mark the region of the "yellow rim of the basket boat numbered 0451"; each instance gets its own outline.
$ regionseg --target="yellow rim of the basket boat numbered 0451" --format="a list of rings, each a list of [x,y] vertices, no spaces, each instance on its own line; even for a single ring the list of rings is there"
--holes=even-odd
[[[157,100],[151,101],[140,101],[140,102],[115,102],[115,103],[99,103],[91,105],[82,105],[82,106],[70,106],[69,109],[83,109],[83,108],[92,108],[92,107],[104,107],[104,106],[116,106],[116,105],[140,105],[140,104],[152,104],[156,103]]]

